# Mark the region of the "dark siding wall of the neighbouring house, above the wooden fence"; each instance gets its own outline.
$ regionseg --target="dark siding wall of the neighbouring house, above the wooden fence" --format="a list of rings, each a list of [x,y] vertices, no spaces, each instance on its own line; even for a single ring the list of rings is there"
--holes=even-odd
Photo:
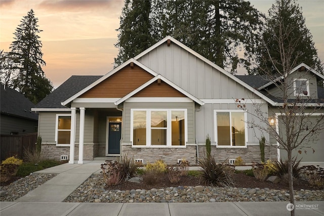
[[[1,114],[1,134],[10,135],[17,133],[18,135],[30,134],[37,132],[38,120],[30,120],[16,116]]]

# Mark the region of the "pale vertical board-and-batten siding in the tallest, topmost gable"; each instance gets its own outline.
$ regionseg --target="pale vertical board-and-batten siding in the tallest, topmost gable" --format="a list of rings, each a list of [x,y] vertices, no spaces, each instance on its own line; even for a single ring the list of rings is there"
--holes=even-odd
[[[248,97],[242,85],[173,43],[157,47],[138,61],[199,99]]]

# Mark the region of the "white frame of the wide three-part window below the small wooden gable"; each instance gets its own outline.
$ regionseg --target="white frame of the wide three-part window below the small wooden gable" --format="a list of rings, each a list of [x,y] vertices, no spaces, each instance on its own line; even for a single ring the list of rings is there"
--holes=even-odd
[[[146,111],[146,145],[133,145],[133,120],[134,111]],[[151,145],[151,111],[167,111],[167,145]],[[172,145],[172,111],[184,111],[185,118],[185,143],[183,146]],[[188,142],[188,116],[187,109],[131,109],[131,142],[133,148],[185,148]],[[156,127],[153,127],[157,129]]]

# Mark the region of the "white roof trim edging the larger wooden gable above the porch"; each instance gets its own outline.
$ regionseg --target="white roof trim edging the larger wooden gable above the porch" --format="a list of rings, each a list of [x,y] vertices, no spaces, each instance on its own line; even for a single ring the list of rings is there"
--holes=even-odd
[[[154,72],[153,70],[149,69],[148,67],[146,67],[145,65],[143,65],[142,63],[136,61],[135,59],[130,59],[128,61],[126,61],[125,63],[119,65],[118,67],[114,68],[113,70],[111,70],[110,72],[106,73],[105,75],[101,76],[99,79],[97,79],[96,81],[94,81],[93,83],[91,83],[90,85],[88,85],[88,87],[80,90],[79,92],[76,92],[75,94],[71,95],[71,97],[67,98],[66,100],[62,101],[61,105],[65,106],[68,103],[72,102],[74,99],[76,99],[77,97],[79,97],[80,95],[86,93],[87,91],[89,91],[90,89],[92,89],[93,87],[95,87],[97,84],[99,84],[100,82],[102,82],[103,80],[107,79],[109,76],[113,75],[114,73],[116,73],[117,71],[119,71],[120,69],[124,68],[125,66],[129,65],[131,62],[133,62],[134,64],[136,64],[137,66],[141,67],[143,70],[149,72],[150,74],[152,74],[153,76],[156,76],[157,73]]]

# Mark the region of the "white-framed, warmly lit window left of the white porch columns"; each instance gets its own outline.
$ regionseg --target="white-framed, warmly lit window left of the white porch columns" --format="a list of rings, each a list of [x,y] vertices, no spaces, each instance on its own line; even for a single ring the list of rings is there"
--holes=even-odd
[[[70,144],[71,115],[58,114],[56,117],[56,144]]]

